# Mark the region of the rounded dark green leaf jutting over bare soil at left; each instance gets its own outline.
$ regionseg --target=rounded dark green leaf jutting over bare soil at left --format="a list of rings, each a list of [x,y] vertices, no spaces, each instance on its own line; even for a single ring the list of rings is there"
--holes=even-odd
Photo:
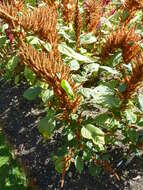
[[[24,98],[27,100],[35,100],[41,93],[40,87],[30,87],[24,92]]]

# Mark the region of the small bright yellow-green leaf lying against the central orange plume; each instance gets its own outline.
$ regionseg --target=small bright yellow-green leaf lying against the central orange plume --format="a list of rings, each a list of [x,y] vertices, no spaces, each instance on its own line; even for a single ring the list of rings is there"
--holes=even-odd
[[[61,81],[61,87],[65,90],[68,97],[73,100],[74,99],[74,93],[73,93],[72,87],[70,86],[70,84],[68,83],[67,80],[63,79]]]

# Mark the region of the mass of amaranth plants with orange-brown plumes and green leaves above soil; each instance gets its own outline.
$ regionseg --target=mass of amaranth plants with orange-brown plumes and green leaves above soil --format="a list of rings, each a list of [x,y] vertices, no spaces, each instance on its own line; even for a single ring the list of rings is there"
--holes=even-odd
[[[143,1],[1,0],[0,19],[0,75],[41,97],[44,141],[62,137],[61,186],[72,163],[119,180],[110,152],[143,148]]]

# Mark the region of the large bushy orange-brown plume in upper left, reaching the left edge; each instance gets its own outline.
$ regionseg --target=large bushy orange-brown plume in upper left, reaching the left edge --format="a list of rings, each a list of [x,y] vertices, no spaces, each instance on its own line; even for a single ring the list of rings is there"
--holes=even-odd
[[[33,11],[23,12],[21,16],[18,16],[17,12],[18,9],[10,4],[0,4],[0,18],[12,28],[21,26],[25,31],[32,30],[40,38],[51,43],[52,47],[57,46],[57,13],[54,6],[35,8]]]

